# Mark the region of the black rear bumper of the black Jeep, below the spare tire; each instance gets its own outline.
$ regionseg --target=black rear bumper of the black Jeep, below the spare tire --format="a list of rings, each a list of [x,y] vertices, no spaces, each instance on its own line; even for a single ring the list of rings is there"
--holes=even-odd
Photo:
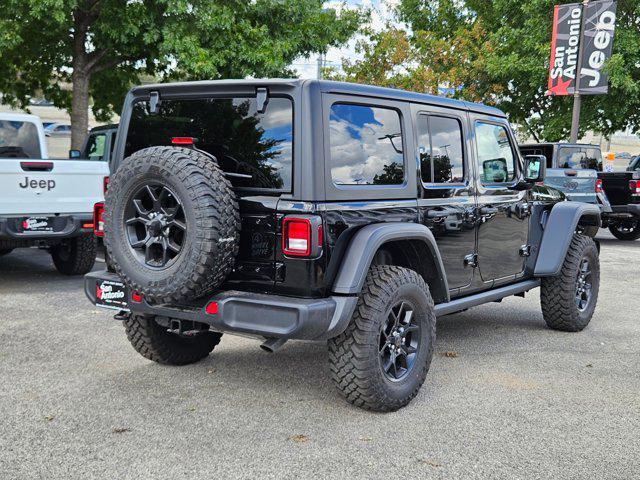
[[[85,276],[85,294],[96,303],[98,282],[120,281],[110,272]],[[205,323],[218,332],[242,333],[265,338],[326,340],[340,335],[349,324],[357,303],[355,296],[295,298],[241,291],[224,291],[190,305],[151,305],[144,298],[127,301],[132,313]],[[205,306],[216,302],[216,314]]]

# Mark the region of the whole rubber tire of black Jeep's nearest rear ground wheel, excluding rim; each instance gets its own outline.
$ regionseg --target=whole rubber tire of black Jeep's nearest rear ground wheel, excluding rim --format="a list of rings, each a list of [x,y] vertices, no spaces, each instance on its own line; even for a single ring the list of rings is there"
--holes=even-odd
[[[420,322],[420,347],[406,378],[391,381],[381,367],[383,322],[398,301],[407,299]],[[429,287],[418,273],[402,267],[372,266],[347,329],[328,341],[332,379],[353,405],[389,412],[407,405],[420,390],[431,365],[436,318]]]

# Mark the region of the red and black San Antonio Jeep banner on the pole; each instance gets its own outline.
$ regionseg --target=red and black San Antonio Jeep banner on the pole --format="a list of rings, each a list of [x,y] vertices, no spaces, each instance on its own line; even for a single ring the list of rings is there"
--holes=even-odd
[[[547,95],[573,95],[576,89],[607,93],[602,67],[611,56],[615,18],[615,0],[590,2],[585,8],[581,3],[554,7]]]

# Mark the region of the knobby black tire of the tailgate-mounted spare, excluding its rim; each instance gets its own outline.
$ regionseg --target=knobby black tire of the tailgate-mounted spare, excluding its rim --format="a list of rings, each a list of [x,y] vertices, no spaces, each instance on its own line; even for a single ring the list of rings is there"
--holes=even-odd
[[[186,219],[182,250],[161,270],[139,262],[125,234],[126,204],[145,183],[173,190]],[[111,266],[148,300],[172,303],[201,297],[222,284],[234,267],[240,238],[238,203],[217,162],[198,151],[151,147],[125,159],[111,177],[104,216]]]

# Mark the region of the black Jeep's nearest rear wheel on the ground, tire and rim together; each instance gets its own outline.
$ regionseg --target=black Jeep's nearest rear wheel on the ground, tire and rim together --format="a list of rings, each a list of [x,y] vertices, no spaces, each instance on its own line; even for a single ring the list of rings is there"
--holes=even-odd
[[[398,410],[424,382],[436,338],[429,287],[413,270],[369,270],[351,323],[328,341],[331,376],[352,404]]]

